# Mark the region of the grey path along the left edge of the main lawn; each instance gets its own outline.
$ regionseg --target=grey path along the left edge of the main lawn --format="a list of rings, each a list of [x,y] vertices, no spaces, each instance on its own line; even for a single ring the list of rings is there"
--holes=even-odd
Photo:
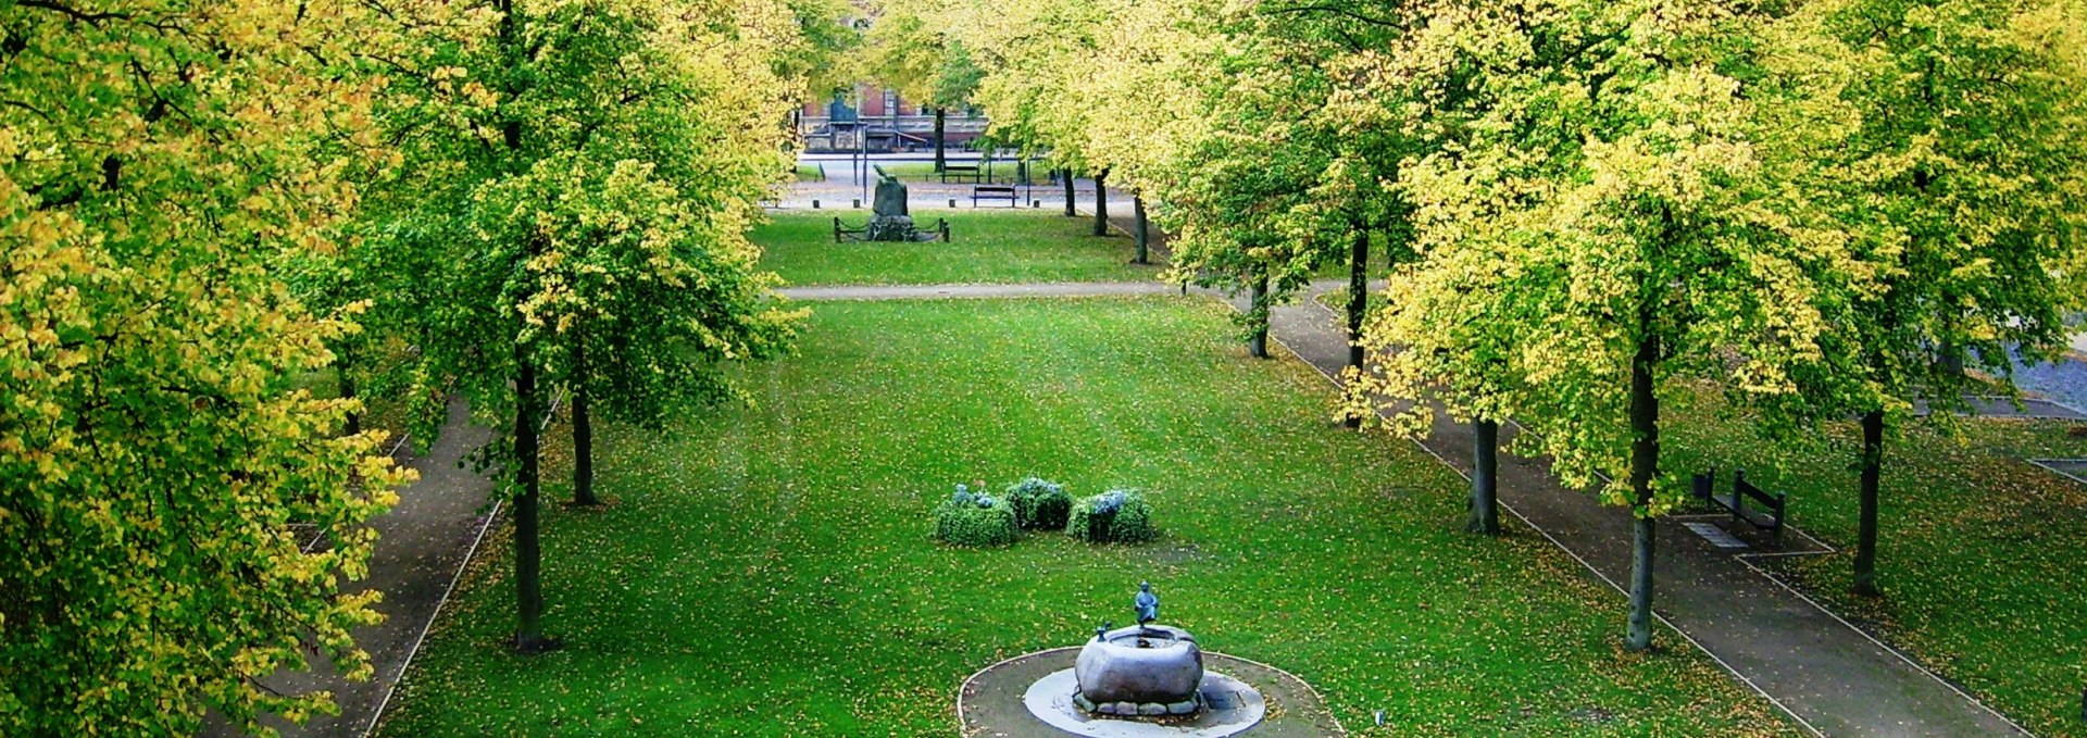
[[[470,423],[461,400],[451,400],[449,421],[434,448],[428,448],[426,457],[407,461],[419,471],[419,482],[399,490],[399,505],[371,521],[380,538],[369,557],[369,577],[351,584],[384,592],[384,600],[376,607],[384,613],[384,621],[355,630],[355,644],[369,653],[376,675],[369,682],[349,682],[321,663],[315,671],[286,671],[265,680],[284,692],[332,690],[340,705],[338,717],[321,715],[305,725],[269,719],[282,736],[369,732],[486,527],[493,482],[457,461],[490,438],[493,432]]]

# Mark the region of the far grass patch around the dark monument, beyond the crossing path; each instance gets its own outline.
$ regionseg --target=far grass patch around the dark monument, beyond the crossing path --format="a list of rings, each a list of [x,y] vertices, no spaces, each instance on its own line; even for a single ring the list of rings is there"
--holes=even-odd
[[[950,221],[950,242],[835,244],[835,215],[862,225],[868,211],[787,211],[751,238],[766,252],[762,269],[791,286],[833,284],[1018,284],[1018,281],[1140,281],[1156,279],[1160,265],[1133,265],[1129,238],[1089,236],[1094,221],[1054,211],[927,211],[914,221],[931,227]]]

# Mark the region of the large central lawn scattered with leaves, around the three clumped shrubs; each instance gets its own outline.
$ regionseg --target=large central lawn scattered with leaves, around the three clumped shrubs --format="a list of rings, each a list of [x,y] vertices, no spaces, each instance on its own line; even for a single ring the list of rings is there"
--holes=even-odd
[[[493,540],[382,734],[954,736],[968,673],[1127,621],[1140,580],[1365,736],[1795,734],[1672,632],[1622,653],[1622,596],[1524,527],[1463,534],[1455,473],[1329,425],[1332,388],[1244,359],[1215,302],[818,304],[743,382],[751,409],[597,429],[611,507],[545,513],[566,650],[501,644]],[[952,484],[1029,473],[1144,488],[1162,538],[931,540]]]

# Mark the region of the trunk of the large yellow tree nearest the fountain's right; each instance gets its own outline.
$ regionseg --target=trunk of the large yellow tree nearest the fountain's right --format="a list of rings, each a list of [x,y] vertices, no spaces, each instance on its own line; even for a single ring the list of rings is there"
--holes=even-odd
[[[1630,632],[1624,648],[1653,646],[1653,479],[1659,477],[1659,394],[1653,392],[1653,365],[1659,363],[1659,336],[1651,321],[1640,321],[1638,354],[1630,361]]]

